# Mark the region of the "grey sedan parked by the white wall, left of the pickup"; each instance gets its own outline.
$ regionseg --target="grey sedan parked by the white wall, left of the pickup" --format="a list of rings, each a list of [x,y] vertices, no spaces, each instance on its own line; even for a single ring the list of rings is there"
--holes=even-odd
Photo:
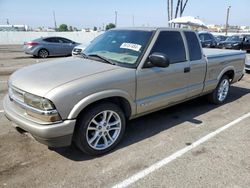
[[[48,56],[67,56],[79,43],[63,37],[45,37],[25,42],[23,50],[26,54],[35,57],[47,58]]]

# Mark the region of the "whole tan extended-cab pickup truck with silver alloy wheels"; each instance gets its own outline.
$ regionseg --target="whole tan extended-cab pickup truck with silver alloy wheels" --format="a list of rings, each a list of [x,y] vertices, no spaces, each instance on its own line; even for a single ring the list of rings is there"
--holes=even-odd
[[[243,77],[245,56],[203,51],[190,30],[112,29],[81,57],[12,74],[4,112],[41,143],[60,147],[73,140],[83,152],[103,154],[121,141],[127,120],[202,95],[224,103],[230,85]]]

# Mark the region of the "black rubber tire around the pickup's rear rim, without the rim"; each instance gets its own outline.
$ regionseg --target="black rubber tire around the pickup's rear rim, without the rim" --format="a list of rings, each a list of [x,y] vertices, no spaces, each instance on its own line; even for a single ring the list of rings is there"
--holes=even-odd
[[[220,100],[218,94],[219,94],[220,86],[221,86],[222,82],[224,82],[224,81],[227,81],[229,83],[229,85],[228,85],[228,91],[226,93],[225,98],[223,98],[223,100]],[[219,81],[217,87],[215,88],[215,90],[208,95],[208,101],[210,103],[212,103],[212,104],[222,104],[227,99],[227,97],[229,95],[229,91],[230,91],[230,80],[229,80],[229,77],[227,75],[224,75],[220,79],[220,81]]]

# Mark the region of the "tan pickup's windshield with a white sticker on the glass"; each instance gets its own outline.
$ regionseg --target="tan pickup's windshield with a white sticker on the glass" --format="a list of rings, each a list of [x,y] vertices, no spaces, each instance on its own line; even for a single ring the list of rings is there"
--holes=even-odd
[[[87,56],[99,55],[118,64],[135,67],[152,33],[135,30],[107,31],[97,37],[83,53]]]

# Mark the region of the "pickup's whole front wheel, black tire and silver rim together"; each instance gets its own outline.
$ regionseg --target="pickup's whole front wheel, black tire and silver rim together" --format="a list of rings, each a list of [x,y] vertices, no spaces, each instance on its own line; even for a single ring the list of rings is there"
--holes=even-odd
[[[75,143],[90,155],[113,149],[122,139],[126,120],[123,111],[113,103],[95,105],[77,121]]]

